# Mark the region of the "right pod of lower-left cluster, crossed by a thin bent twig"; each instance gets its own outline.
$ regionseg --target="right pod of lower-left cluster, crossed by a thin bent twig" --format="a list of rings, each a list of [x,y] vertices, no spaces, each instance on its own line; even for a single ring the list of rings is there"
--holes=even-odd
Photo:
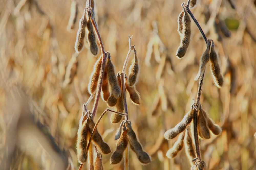
[[[95,123],[93,122],[93,117],[90,115],[89,121],[88,121],[88,129],[90,133],[92,133],[94,126],[95,126]],[[95,145],[95,147],[98,149],[100,153],[109,154],[111,152],[109,145],[103,141],[97,128],[93,133],[92,143]]]

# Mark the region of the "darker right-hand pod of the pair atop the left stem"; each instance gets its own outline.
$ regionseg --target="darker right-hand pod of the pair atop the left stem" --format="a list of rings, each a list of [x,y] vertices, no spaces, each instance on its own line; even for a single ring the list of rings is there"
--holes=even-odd
[[[98,45],[96,43],[96,36],[93,30],[92,21],[88,18],[87,26],[86,26],[86,34],[87,34],[87,41],[90,45],[90,51],[93,55],[98,54]]]

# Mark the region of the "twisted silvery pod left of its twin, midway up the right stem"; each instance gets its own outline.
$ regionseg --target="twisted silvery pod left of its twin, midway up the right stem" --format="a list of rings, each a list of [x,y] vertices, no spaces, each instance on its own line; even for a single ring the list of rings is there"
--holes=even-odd
[[[194,80],[198,80],[198,78],[201,77],[202,73],[205,70],[206,64],[208,63],[208,61],[210,59],[210,47],[211,47],[211,41],[208,40],[206,50],[201,56],[198,74],[196,75]]]

